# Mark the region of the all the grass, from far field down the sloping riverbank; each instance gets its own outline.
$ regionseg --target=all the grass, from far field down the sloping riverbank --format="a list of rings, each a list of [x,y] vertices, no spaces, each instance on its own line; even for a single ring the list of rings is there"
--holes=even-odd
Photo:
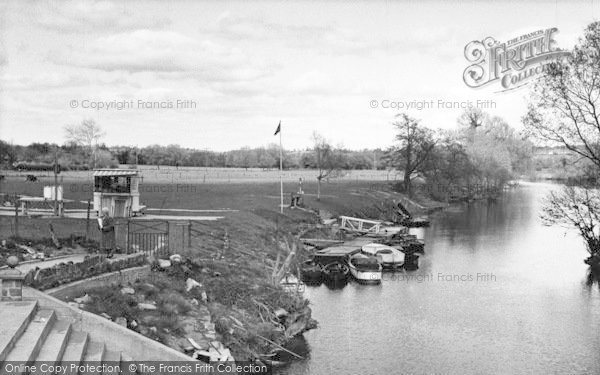
[[[227,208],[236,211],[217,213],[218,216],[224,216],[222,220],[194,222],[191,246],[188,246],[187,239],[179,242],[176,240],[178,236],[185,238],[187,227],[171,223],[170,234],[174,236],[173,240],[169,240],[171,252],[179,253],[192,262],[187,265],[188,270],[161,274],[159,281],[153,284],[157,289],[155,291],[153,287],[140,286],[151,284],[152,280],[141,280],[140,285],[134,286],[136,291],[139,289],[135,298],[120,295],[119,288],[86,290],[95,300],[103,301],[102,304],[104,301],[110,302],[108,305],[92,303],[89,306],[91,311],[106,312],[113,317],[121,315],[128,320],[142,322],[138,329],[142,329],[143,333],[181,349],[176,343],[181,342],[178,339],[185,335],[182,327],[185,327],[185,321],[195,311],[194,306],[190,305],[190,296],[182,290],[182,283],[187,277],[193,277],[204,284],[219,339],[232,348],[236,359],[243,360],[268,353],[273,347],[266,345],[260,336],[284,344],[290,338],[286,330],[302,332],[312,328],[314,324],[310,319],[308,302],[301,296],[291,297],[272,281],[273,269],[281,265],[287,255],[284,243],[298,248],[296,257],[289,265],[289,271],[296,273],[298,264],[307,259],[309,254],[295,236],[304,233],[305,236],[327,238],[330,234],[327,231],[313,230],[313,233],[306,233],[307,228],[314,227],[323,218],[339,215],[391,220],[395,211],[394,201],[405,199],[392,191],[391,183],[385,181],[385,172],[366,171],[362,175],[354,175],[355,178],[345,176],[323,182],[322,196],[317,200],[314,171],[301,171],[287,176],[284,182],[284,202],[289,204],[290,193],[297,191],[298,175],[311,174],[312,180],[305,180],[303,183],[306,209],[286,207],[280,213],[278,175],[273,174],[273,171],[268,172],[267,182],[257,180],[256,174],[260,174],[260,171],[252,171],[254,174],[239,170],[210,172],[213,179],[209,183],[201,182],[202,170],[180,168],[179,171],[173,171],[171,168],[164,171],[161,167],[160,172],[144,171],[140,200],[148,207],[165,210]],[[178,173],[182,175],[179,176]],[[229,173],[228,179],[217,181],[215,174],[218,173]],[[232,177],[234,174],[236,178]],[[39,195],[42,186],[50,183],[49,177],[42,178],[37,183],[27,183],[21,177],[7,177],[0,188],[2,192],[9,194],[17,192]],[[88,172],[65,173],[62,184],[67,199],[91,198]],[[410,203],[408,206],[413,210],[416,207],[411,207]],[[172,211],[168,213],[177,214]],[[184,214],[189,215],[189,212]],[[8,238],[13,234],[13,221],[14,218],[10,216],[0,217],[0,238]],[[26,238],[47,238],[50,222],[59,237],[81,235],[86,231],[86,220],[21,218],[20,235]],[[92,225],[91,234],[92,238],[98,236],[95,224]],[[228,239],[227,246],[225,238]],[[152,279],[156,281],[155,276]],[[146,314],[149,317],[140,316],[140,312],[134,308],[140,298],[157,302],[159,313],[155,317],[152,314]],[[274,315],[274,311],[279,308],[289,313],[289,322],[282,322]],[[238,323],[243,329],[236,328]],[[288,328],[290,326],[293,328]],[[156,329],[148,330],[149,327]]]

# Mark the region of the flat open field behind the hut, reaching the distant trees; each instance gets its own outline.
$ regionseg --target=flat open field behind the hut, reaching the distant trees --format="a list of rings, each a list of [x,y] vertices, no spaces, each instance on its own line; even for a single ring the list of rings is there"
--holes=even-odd
[[[249,209],[277,205],[279,200],[279,171],[262,169],[192,168],[140,166],[142,183],[140,201],[152,208],[179,209]],[[41,196],[45,185],[52,185],[54,177],[49,172],[2,171],[0,193],[5,195]],[[36,182],[26,182],[25,176],[33,174]],[[285,200],[298,190],[302,178],[307,197],[316,194],[317,172],[314,170],[287,170],[283,173]],[[378,189],[378,184],[398,180],[395,171],[351,170],[342,171],[335,178],[324,181],[322,194],[337,195],[353,187]],[[63,172],[59,177],[65,199],[86,201],[92,198],[91,171]],[[260,197],[260,198],[259,198]],[[258,203],[257,201],[261,201]],[[269,202],[267,204],[267,202]],[[271,203],[272,202],[272,203]],[[83,208],[81,203],[71,203],[68,208]]]

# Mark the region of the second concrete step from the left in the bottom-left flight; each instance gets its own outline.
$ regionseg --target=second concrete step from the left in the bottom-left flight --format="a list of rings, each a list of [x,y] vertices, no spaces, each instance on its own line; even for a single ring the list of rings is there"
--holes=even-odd
[[[6,356],[6,361],[30,362],[35,360],[55,320],[54,310],[37,311],[15,343],[14,348]]]

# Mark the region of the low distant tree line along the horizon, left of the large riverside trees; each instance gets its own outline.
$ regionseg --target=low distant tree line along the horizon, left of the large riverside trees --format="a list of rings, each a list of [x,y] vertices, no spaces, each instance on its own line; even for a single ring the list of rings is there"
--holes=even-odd
[[[348,150],[334,148],[336,169],[385,169],[384,150]],[[87,170],[117,167],[119,164],[168,165],[182,167],[219,168],[279,168],[279,146],[245,147],[231,151],[209,151],[184,148],[178,145],[150,145],[145,147],[114,146],[103,143],[89,145],[67,142],[63,145],[32,143],[12,145],[0,140],[2,169],[51,170],[55,153],[63,170]],[[314,149],[284,150],[285,169],[317,169],[319,162]]]

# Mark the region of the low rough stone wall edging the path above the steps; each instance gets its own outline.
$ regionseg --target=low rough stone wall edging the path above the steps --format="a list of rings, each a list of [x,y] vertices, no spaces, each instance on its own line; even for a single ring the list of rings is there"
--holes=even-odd
[[[118,259],[107,259],[104,255],[90,255],[81,263],[60,263],[49,268],[33,269],[25,275],[25,285],[46,290],[61,284],[137,267],[145,263],[146,256],[144,254],[131,254]]]

